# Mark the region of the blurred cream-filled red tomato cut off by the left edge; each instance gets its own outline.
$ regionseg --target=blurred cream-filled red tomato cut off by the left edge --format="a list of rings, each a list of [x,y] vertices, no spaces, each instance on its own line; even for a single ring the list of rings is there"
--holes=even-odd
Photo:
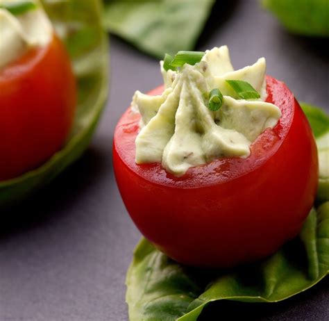
[[[34,1],[0,2],[0,180],[47,161],[74,120],[76,83],[67,51]]]

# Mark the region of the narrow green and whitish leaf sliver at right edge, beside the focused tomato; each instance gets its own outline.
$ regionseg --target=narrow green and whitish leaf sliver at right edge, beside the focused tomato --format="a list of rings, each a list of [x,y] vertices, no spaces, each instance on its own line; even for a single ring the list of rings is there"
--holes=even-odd
[[[329,201],[329,116],[319,107],[301,103],[316,138],[319,156],[317,199]]]

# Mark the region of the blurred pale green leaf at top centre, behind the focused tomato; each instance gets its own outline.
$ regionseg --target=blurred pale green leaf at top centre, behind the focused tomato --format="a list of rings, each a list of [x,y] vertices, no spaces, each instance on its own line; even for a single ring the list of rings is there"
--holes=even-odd
[[[214,4],[214,0],[104,2],[106,29],[157,58],[194,49]]]

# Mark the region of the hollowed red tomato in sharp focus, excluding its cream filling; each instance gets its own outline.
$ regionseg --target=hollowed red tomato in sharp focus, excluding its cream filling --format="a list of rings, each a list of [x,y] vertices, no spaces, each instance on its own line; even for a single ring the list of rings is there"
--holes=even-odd
[[[203,267],[255,261],[301,229],[317,192],[317,147],[286,85],[267,76],[267,91],[282,117],[253,142],[251,156],[221,158],[179,178],[160,164],[135,164],[140,116],[128,109],[119,120],[113,163],[121,197],[142,234],[176,261]]]

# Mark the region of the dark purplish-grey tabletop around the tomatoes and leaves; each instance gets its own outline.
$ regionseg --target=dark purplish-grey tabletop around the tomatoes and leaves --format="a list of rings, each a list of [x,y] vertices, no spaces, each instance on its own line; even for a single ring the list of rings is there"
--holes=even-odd
[[[112,135],[133,92],[161,77],[157,60],[110,40],[110,98],[90,148],[37,197],[1,213],[0,321],[128,320],[124,279],[140,233],[115,184]],[[257,1],[217,1],[197,49],[222,44],[236,68],[264,56],[298,99],[328,106],[325,41],[289,35]],[[222,302],[203,320],[328,320],[328,285],[279,304]]]

